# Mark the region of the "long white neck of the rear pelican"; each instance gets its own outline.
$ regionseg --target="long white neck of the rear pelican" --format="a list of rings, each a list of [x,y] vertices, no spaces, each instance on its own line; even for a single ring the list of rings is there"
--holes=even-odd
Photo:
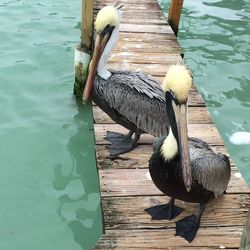
[[[112,49],[114,48],[114,46],[116,45],[117,41],[118,41],[118,38],[119,38],[119,25],[116,26],[112,32],[112,35],[102,53],[102,56],[100,58],[100,61],[98,63],[98,67],[97,67],[97,73],[98,75],[107,80],[110,76],[111,76],[111,73],[110,71],[108,71],[108,68],[107,68],[107,60],[108,60],[108,57],[112,51]]]

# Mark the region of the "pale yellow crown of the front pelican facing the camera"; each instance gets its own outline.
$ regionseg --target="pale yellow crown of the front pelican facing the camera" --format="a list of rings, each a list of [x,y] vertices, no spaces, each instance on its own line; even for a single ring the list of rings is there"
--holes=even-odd
[[[192,76],[185,65],[173,65],[163,81],[164,92],[172,91],[179,103],[186,102],[192,85]]]

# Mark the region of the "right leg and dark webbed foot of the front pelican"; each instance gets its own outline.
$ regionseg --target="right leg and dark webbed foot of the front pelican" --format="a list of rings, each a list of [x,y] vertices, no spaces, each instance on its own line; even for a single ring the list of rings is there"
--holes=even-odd
[[[176,235],[183,237],[188,242],[191,242],[200,227],[201,216],[205,210],[205,205],[200,204],[198,216],[192,214],[176,222]]]

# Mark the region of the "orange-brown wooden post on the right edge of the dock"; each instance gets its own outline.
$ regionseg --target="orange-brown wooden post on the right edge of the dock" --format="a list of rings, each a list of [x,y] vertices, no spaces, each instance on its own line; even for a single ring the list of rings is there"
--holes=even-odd
[[[170,1],[168,23],[172,27],[176,36],[178,34],[182,6],[183,6],[183,0]]]

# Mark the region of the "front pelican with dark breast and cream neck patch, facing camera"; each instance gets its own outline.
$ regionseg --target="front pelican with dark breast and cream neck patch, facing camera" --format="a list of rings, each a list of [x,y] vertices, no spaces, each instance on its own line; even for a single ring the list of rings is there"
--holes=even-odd
[[[186,113],[191,84],[192,77],[184,65],[172,66],[164,79],[170,129],[168,136],[153,145],[149,172],[157,188],[171,199],[165,205],[145,209],[152,219],[173,219],[182,211],[174,205],[175,199],[199,203],[198,216],[176,222],[176,235],[189,242],[199,229],[205,205],[226,190],[231,171],[226,155],[215,154],[198,138],[188,139]]]

